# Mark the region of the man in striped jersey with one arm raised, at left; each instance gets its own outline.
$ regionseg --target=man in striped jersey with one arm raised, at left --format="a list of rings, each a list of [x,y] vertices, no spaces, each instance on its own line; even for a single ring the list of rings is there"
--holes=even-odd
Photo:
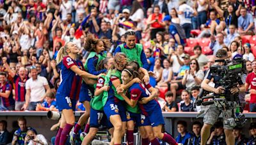
[[[7,63],[4,63],[4,67],[9,72],[9,75],[13,78],[13,84],[15,86],[15,110],[20,111],[22,106],[25,104],[25,84],[28,79],[26,70],[24,67],[20,67],[18,74],[15,74]]]

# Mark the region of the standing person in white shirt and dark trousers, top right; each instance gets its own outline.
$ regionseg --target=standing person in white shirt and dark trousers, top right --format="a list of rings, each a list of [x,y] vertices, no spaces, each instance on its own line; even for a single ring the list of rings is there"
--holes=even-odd
[[[186,4],[185,0],[182,0],[180,1],[179,10],[177,11],[177,13],[180,18],[180,25],[186,33],[186,38],[190,38],[190,31],[192,29],[191,18],[193,17],[193,15],[197,15],[196,10],[193,10],[191,6]]]

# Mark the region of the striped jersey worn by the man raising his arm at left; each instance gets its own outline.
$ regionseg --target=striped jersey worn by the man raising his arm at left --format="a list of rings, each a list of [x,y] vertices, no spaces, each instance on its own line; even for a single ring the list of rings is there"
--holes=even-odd
[[[23,80],[17,74],[14,76],[13,86],[14,86],[14,89],[15,89],[15,100],[20,101],[20,102],[25,101],[26,81],[27,80],[28,80],[27,76]]]

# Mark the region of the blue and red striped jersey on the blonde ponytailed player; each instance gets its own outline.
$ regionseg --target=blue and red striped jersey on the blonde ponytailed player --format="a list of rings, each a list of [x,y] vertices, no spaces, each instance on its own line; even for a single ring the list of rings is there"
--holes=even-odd
[[[84,70],[83,63],[80,60],[73,60],[66,56],[61,62],[60,86],[57,93],[61,93],[70,99],[79,99],[79,93],[82,85],[82,77],[70,69],[72,66],[77,66]]]

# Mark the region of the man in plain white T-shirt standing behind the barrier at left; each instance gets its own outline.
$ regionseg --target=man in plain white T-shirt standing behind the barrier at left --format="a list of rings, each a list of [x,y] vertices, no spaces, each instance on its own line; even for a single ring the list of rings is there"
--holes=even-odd
[[[26,103],[22,109],[35,110],[36,104],[42,103],[46,93],[51,91],[47,79],[42,76],[37,76],[35,66],[30,67],[31,78],[26,81]]]

